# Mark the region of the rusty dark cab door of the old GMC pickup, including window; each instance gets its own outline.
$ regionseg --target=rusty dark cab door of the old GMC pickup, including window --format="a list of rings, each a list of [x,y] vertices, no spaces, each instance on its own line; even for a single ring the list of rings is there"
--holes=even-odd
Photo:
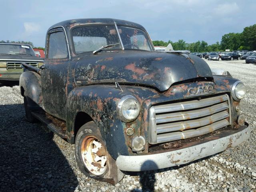
[[[46,36],[46,59],[42,69],[44,110],[62,120],[66,119],[67,77],[70,54],[63,28],[54,28]]]

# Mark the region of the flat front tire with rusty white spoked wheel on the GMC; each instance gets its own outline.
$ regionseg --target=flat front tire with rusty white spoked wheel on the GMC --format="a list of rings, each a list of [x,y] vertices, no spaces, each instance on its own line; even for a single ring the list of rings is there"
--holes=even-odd
[[[78,167],[90,178],[116,184],[124,177],[124,173],[116,166],[116,160],[108,153],[106,142],[93,121],[78,130],[75,154]]]

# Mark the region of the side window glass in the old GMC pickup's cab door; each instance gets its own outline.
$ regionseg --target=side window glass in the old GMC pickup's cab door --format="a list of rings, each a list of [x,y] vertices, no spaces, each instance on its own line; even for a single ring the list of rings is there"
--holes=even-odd
[[[48,38],[48,59],[61,59],[68,57],[64,32],[50,33]]]

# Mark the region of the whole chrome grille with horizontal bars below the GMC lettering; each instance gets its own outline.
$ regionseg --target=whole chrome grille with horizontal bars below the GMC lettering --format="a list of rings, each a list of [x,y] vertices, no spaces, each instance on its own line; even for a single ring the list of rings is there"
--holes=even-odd
[[[230,125],[227,94],[162,104],[150,108],[149,143],[157,144],[204,135]]]

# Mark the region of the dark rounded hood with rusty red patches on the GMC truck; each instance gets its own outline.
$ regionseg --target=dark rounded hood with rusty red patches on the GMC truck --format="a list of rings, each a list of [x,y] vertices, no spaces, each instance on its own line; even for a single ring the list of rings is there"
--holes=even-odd
[[[173,83],[197,77],[212,77],[204,60],[177,53],[147,51],[100,52],[81,57],[75,67],[78,85],[125,83],[151,86],[160,91]]]

